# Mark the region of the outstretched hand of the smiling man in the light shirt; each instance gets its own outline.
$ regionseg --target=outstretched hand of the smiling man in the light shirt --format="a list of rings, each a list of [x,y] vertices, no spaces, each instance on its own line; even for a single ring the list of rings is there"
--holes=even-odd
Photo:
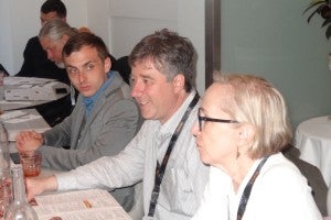
[[[55,176],[49,176],[44,178],[26,178],[25,187],[28,201],[31,201],[34,196],[40,195],[43,191],[56,190],[57,180]]]

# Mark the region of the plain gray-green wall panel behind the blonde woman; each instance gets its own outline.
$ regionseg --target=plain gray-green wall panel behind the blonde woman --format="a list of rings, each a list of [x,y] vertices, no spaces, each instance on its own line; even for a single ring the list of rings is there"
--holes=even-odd
[[[285,96],[293,128],[331,113],[331,44],[302,14],[309,0],[222,0],[222,69],[270,80]]]

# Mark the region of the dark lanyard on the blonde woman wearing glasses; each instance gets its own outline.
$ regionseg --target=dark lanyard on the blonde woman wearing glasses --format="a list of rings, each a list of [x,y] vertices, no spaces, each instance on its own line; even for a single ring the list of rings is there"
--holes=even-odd
[[[247,205],[247,201],[249,199],[249,196],[250,196],[250,191],[252,191],[252,188],[253,188],[253,185],[255,183],[255,179],[257,178],[257,176],[259,175],[259,172],[261,169],[261,167],[264,166],[264,164],[266,163],[267,158],[269,156],[266,156],[264,157],[258,166],[256,167],[253,176],[250,177],[249,182],[247,183],[245,189],[244,189],[244,193],[242,195],[242,199],[241,199],[241,204],[239,204],[239,208],[238,208],[238,211],[237,211],[237,220],[242,220],[243,216],[244,216],[244,212],[246,210],[246,205]]]

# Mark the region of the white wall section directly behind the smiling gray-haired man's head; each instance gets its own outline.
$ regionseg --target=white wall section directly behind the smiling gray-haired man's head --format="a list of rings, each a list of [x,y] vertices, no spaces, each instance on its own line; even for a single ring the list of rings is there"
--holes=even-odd
[[[204,91],[204,2],[192,0],[109,0],[110,52],[128,55],[137,42],[156,30],[169,29],[195,45],[197,90]]]

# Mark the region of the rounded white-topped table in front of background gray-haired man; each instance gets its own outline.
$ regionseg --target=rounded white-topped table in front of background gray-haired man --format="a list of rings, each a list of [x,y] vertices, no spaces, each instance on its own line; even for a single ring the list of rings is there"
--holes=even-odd
[[[4,77],[0,86],[0,109],[6,111],[35,107],[58,100],[70,91],[68,85],[54,79]]]

